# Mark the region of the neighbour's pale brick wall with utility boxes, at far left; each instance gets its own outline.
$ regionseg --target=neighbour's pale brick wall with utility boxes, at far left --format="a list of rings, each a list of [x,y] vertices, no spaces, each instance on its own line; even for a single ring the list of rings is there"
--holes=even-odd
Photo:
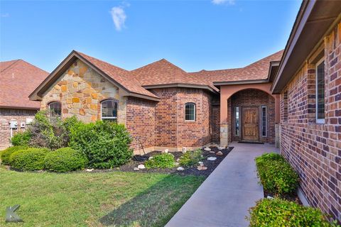
[[[0,109],[0,150],[8,148],[11,130],[9,121],[18,121],[18,128],[13,130],[13,135],[18,131],[24,131],[25,128],[20,127],[21,122],[26,123],[26,118],[33,118],[37,111],[24,109]]]

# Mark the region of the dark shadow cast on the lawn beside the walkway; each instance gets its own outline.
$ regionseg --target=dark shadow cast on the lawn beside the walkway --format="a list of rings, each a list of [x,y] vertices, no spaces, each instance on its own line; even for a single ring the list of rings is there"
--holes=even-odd
[[[195,177],[169,175],[99,222],[104,226],[164,226],[200,184]]]

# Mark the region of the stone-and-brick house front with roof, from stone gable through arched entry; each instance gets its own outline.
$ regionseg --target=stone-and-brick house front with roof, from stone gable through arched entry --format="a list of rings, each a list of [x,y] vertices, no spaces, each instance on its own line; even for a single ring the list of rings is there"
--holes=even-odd
[[[63,118],[124,123],[136,153],[232,140],[274,143],[279,96],[270,85],[281,55],[234,70],[188,73],[167,60],[127,71],[72,51],[30,99]]]

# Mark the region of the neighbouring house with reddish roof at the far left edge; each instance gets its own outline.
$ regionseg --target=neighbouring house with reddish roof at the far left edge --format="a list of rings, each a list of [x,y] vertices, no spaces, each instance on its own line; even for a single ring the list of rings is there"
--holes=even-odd
[[[0,150],[9,147],[11,134],[23,131],[40,109],[28,95],[47,76],[23,60],[0,62]]]

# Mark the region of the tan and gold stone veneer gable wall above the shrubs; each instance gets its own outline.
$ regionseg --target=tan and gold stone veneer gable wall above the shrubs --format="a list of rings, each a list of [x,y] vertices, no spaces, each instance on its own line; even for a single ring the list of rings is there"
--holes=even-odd
[[[75,115],[82,121],[90,122],[100,119],[100,102],[104,99],[119,101],[117,121],[126,123],[126,97],[119,96],[119,88],[81,60],[75,60],[58,81],[43,94],[40,108],[48,108],[51,101],[60,101],[63,118]]]

